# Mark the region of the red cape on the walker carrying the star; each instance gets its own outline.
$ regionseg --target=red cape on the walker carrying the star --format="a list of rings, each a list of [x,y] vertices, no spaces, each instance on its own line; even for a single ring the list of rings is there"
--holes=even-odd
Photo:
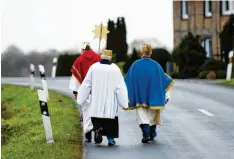
[[[101,59],[100,55],[96,54],[92,50],[84,51],[73,63],[71,72],[76,77],[78,82],[81,84],[89,70],[89,67],[99,62]]]

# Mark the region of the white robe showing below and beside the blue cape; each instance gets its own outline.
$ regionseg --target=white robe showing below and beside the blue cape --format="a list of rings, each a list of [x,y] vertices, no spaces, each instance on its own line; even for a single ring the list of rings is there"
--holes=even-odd
[[[166,99],[170,99],[170,92],[168,91],[166,93]],[[160,110],[162,112],[162,110]],[[136,116],[137,116],[137,121],[140,124],[149,124],[150,126],[155,125],[155,110],[150,110],[146,108],[137,108],[136,109]],[[161,119],[160,119],[161,120]],[[160,121],[162,122],[162,121]]]

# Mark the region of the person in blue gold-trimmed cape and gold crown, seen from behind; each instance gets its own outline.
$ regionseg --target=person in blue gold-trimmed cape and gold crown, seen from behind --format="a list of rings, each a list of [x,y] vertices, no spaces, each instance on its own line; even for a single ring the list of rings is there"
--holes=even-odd
[[[140,60],[135,61],[125,76],[129,107],[137,112],[137,120],[143,133],[142,143],[154,140],[156,127],[160,124],[160,111],[165,109],[166,93],[174,84],[159,63],[150,58],[152,48],[141,47]]]

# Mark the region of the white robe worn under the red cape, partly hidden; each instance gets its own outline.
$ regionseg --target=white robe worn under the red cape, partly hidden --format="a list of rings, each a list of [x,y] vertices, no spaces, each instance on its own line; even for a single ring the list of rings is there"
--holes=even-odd
[[[72,91],[78,92],[79,87],[80,87],[80,83],[78,82],[76,77],[72,75],[70,83],[69,83],[69,89]],[[79,94],[78,94],[78,97],[79,97]],[[87,99],[83,105],[84,106],[81,106],[81,108],[78,106],[78,110],[80,113],[83,114],[83,131],[84,133],[87,133],[93,129],[91,118],[89,116],[90,99]]]

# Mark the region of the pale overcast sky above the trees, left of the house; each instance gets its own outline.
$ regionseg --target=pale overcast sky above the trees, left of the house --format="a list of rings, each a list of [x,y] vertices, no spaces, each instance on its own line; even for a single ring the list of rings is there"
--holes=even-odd
[[[124,16],[127,40],[156,38],[173,47],[172,0],[0,0],[2,51],[16,44],[23,51],[78,49],[98,40],[95,25]],[[105,46],[105,43],[102,43]]]

